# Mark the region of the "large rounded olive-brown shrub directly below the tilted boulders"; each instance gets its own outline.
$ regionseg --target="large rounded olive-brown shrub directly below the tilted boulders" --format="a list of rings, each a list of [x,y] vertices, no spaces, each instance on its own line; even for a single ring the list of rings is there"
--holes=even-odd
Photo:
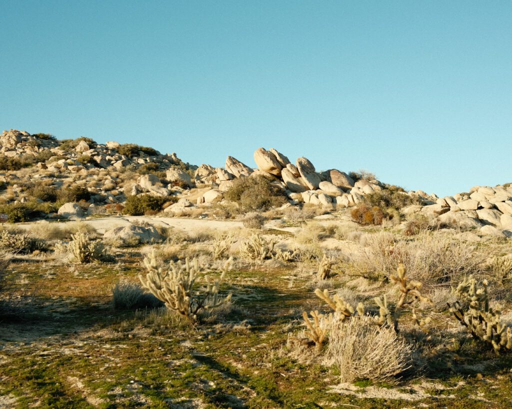
[[[234,180],[224,197],[238,203],[244,212],[265,211],[287,201],[284,190],[262,176]]]

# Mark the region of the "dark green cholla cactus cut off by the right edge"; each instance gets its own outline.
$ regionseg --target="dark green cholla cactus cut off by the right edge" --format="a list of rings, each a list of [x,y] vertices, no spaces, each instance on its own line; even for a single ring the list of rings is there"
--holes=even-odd
[[[475,339],[491,344],[498,355],[512,349],[510,327],[501,322],[501,311],[489,306],[487,280],[479,286],[470,276],[457,287],[457,296],[459,300],[449,304],[450,311]]]

